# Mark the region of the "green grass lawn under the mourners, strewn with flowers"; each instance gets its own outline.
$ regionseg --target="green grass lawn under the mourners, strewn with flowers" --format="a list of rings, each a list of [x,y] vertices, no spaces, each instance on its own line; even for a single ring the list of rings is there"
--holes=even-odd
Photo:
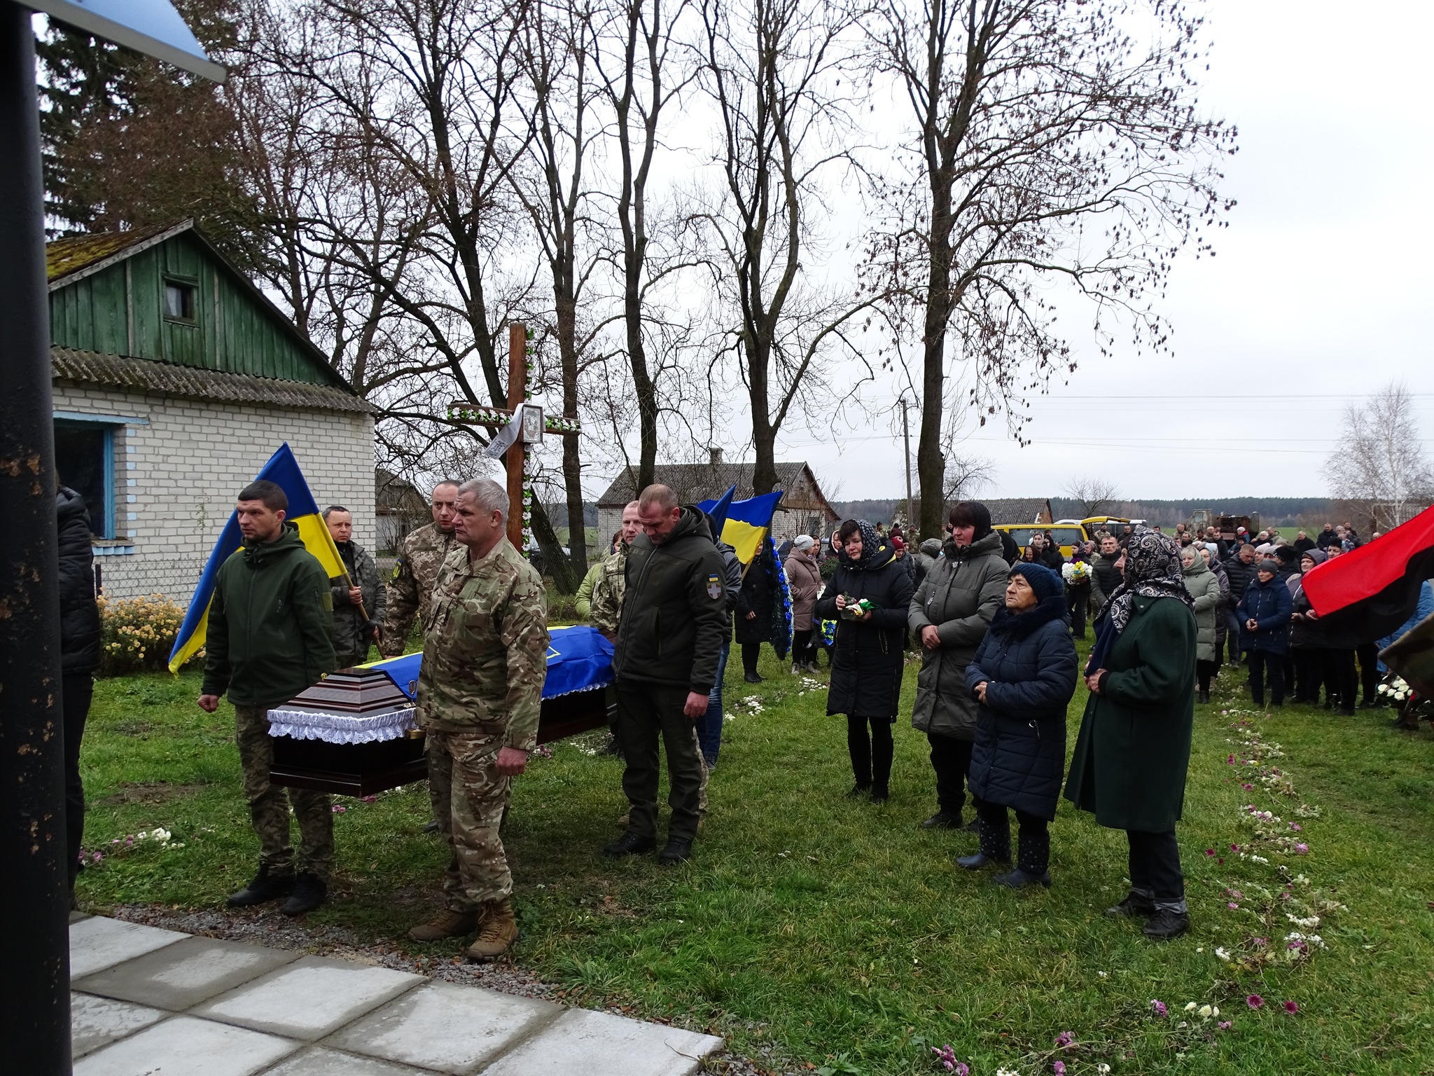
[[[1220,710],[1240,706],[1226,669],[1216,704],[1196,716],[1179,831],[1195,930],[1160,945],[1137,922],[1101,914],[1124,894],[1121,834],[1063,801],[1051,828],[1054,888],[998,889],[951,865],[975,838],[919,828],[935,806],[932,776],[925,740],[905,720],[891,802],[852,802],[845,726],[825,714],[825,692],[800,693],[770,656],[757,687],[741,683],[740,663],[728,671],[727,710],[737,717],[724,729],[691,864],[663,871],[647,858],[598,854],[625,802],[619,763],[588,753],[594,737],[587,749],[556,745],[516,782],[505,831],[525,933],[516,957],[565,984],[574,1003],[710,1029],[774,1069],[938,1072],[929,1046],[951,1043],[975,1073],[1005,1066],[1031,1076],[1051,1072],[1055,1036],[1068,1030],[1081,1046],[1061,1054],[1071,1073],[1100,1063],[1114,1073],[1434,1072],[1428,732],[1391,733],[1384,710],[1252,717],[1283,746],[1266,765],[1292,778],[1295,796],[1245,791],[1250,768],[1226,760],[1239,747]],[[912,666],[905,684],[909,713]],[[215,907],[252,872],[232,714],[227,706],[204,714],[196,694],[192,676],[99,684],[83,755],[87,844],[163,825],[184,846],[142,846],[86,871],[86,907]],[[761,714],[741,704],[753,696]],[[1083,706],[1084,689],[1071,706],[1071,743]],[[426,791],[344,802],[336,895],[311,918],[452,955],[452,944],[402,937],[437,907],[447,859],[419,832]],[[1253,835],[1245,803],[1286,822],[1301,805],[1318,808],[1318,818],[1301,818],[1309,855],[1265,849],[1262,867],[1230,854]],[[1308,964],[1236,971],[1216,945],[1250,951],[1250,937],[1282,944],[1292,928],[1278,897],[1282,862],[1348,911],[1324,917],[1328,948]],[[1256,885],[1275,894],[1265,921]],[[1226,907],[1228,888],[1243,892],[1240,908]],[[1269,1004],[1252,1011],[1248,993]],[[1154,1017],[1150,999],[1170,1016]],[[1299,1013],[1279,1011],[1283,1000]],[[1187,1019],[1186,1001],[1217,1004],[1233,1029]]]

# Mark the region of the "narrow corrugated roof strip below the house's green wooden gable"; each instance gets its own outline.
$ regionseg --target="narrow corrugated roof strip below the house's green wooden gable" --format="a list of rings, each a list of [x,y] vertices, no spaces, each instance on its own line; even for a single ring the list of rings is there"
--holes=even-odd
[[[366,400],[338,386],[201,370],[194,366],[156,363],[151,359],[76,351],[69,347],[50,349],[50,367],[54,379],[60,382],[103,384],[191,400],[267,403],[275,407],[304,410],[360,413],[373,413],[374,410]]]

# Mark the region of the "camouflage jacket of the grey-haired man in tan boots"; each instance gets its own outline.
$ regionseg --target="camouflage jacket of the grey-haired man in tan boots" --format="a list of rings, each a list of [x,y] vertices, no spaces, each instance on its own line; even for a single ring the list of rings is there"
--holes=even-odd
[[[419,725],[480,732],[499,746],[532,750],[546,674],[542,578],[506,538],[476,564],[467,547],[455,547],[439,567],[423,621]]]

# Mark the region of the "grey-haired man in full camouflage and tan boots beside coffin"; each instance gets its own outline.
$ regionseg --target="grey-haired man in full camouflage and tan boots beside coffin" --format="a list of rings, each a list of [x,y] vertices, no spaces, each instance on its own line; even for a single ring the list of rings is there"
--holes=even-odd
[[[439,568],[423,621],[417,722],[435,785],[450,788],[445,834],[453,858],[446,910],[409,931],[414,941],[470,934],[470,960],[493,961],[518,940],[513,879],[498,825],[509,780],[538,743],[548,673],[548,600],[503,531],[508,494],[489,479],[457,489],[457,547]]]

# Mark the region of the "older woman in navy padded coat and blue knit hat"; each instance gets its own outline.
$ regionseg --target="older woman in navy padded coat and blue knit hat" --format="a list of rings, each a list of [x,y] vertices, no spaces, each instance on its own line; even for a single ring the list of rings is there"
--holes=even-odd
[[[971,752],[981,851],[956,859],[979,869],[1011,859],[1011,819],[1021,828],[1015,869],[995,878],[1020,889],[1050,885],[1051,836],[1065,765],[1065,707],[1076,694],[1076,644],[1061,578],[1038,564],[1017,564],[1005,607],[967,666],[978,702]]]

